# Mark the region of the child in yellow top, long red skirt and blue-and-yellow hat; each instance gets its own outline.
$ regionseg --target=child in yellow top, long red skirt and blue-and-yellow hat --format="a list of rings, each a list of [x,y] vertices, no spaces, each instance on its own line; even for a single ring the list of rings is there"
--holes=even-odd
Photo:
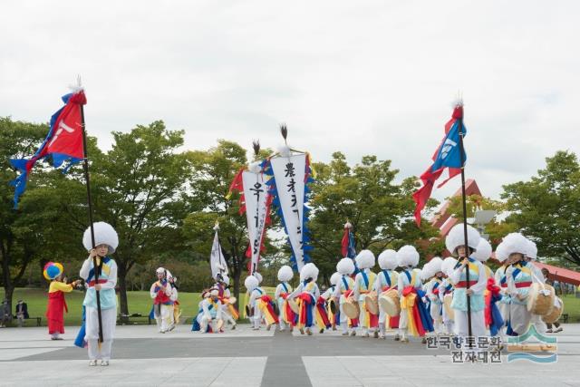
[[[63,265],[49,262],[44,265],[44,278],[51,281],[48,288],[48,304],[46,305],[46,319],[48,321],[48,334],[51,340],[63,340],[59,334],[64,334],[64,311],[68,313],[69,309],[64,299],[65,293],[71,293],[74,286],[80,281],[74,281],[71,284],[65,284],[63,278]]]

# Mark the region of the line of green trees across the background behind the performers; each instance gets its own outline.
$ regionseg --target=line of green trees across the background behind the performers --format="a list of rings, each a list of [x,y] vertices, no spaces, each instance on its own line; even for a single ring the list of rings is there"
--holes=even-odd
[[[47,132],[46,124],[0,118],[0,269],[10,305],[16,286],[43,284],[46,262],[62,262],[73,278],[87,255],[81,243],[88,217],[80,165],[63,174],[47,162],[37,164],[19,207],[13,208],[9,182],[16,172],[9,160],[32,156]],[[163,121],[113,131],[111,136],[112,146],[106,151],[89,137],[88,154],[94,219],[110,223],[119,233],[114,258],[121,313],[129,313],[127,291],[149,288],[156,266],[168,266],[181,290],[211,285],[208,256],[216,221],[238,296],[247,265],[247,226],[245,216],[239,215],[237,195],[226,196],[237,170],[248,163],[247,149],[218,140],[208,150],[183,150],[184,131],[170,131]],[[259,156],[270,153],[261,150]],[[439,230],[428,221],[421,227],[414,223],[411,193],[419,187],[418,180],[399,179],[391,160],[367,155],[349,165],[337,151],[328,163],[315,162],[314,168],[309,228],[311,256],[321,269],[321,281],[328,281],[341,255],[347,219],[353,224],[357,250],[369,248],[378,254],[415,244],[422,257],[443,252]],[[507,231],[523,229],[544,256],[580,265],[579,179],[575,154],[559,151],[529,181],[505,186],[503,201],[477,198],[470,208],[483,203],[507,214],[489,226],[492,242]],[[438,204],[430,199],[428,208]],[[272,215],[260,261],[260,272],[271,285],[277,268],[289,257],[280,219]]]

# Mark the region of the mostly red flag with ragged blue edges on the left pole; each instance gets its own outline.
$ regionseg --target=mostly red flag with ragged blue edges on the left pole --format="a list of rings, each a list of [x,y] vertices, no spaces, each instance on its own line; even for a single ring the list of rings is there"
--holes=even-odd
[[[26,189],[26,182],[36,161],[52,157],[54,168],[59,168],[65,161],[68,166],[66,172],[74,163],[82,160],[84,149],[82,146],[82,114],[81,107],[87,103],[82,89],[63,96],[64,106],[51,117],[50,131],[42,145],[31,159],[10,160],[20,175],[11,181],[14,186],[14,208],[18,207],[18,199]]]

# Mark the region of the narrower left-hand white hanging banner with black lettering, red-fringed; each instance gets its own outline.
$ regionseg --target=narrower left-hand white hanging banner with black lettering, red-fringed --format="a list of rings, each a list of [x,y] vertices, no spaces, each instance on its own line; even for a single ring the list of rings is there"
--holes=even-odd
[[[264,173],[254,173],[249,170],[242,172],[244,186],[244,202],[246,205],[247,233],[250,241],[248,247],[250,256],[250,273],[254,274],[260,259],[262,238],[266,230],[268,215],[268,186]]]

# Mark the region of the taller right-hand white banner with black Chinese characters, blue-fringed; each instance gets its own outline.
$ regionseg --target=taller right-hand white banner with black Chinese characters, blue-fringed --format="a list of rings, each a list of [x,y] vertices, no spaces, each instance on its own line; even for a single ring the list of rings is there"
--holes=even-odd
[[[304,266],[304,176],[306,155],[270,159],[277,198],[298,271]]]

